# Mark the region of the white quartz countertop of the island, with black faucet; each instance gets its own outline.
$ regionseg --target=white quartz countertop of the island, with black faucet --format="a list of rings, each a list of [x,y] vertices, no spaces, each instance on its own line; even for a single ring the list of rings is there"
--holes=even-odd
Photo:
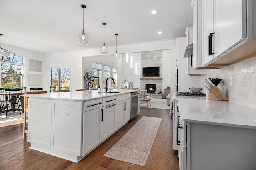
[[[71,92],[58,92],[58,93],[42,93],[42,94],[24,94],[21,96],[28,96],[31,98],[42,98],[42,99],[58,99],[58,100],[68,100],[68,101],[88,101],[98,98],[106,98],[110,96],[117,96],[131,92],[137,92],[139,90],[124,90],[124,89],[114,89],[111,92],[119,93],[105,93],[98,92],[98,90],[85,90],[85,91],[71,91]]]

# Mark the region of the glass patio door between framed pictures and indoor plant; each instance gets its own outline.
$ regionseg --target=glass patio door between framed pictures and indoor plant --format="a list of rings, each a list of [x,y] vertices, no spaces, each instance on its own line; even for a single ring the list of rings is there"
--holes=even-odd
[[[70,90],[71,68],[50,68],[50,92]]]

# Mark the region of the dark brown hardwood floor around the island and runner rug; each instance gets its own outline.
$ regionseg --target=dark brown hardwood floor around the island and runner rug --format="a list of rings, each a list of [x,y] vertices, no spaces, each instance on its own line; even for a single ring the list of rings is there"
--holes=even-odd
[[[142,117],[161,117],[156,139],[146,166],[138,166],[103,155]],[[74,163],[29,149],[27,137],[22,137],[23,119],[0,124],[0,170],[178,170],[177,151],[172,149],[172,120],[170,110],[140,109],[138,117],[108,138],[80,162]]]

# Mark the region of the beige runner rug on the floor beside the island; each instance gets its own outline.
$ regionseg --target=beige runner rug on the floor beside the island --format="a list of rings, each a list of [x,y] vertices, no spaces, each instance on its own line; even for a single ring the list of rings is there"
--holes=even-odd
[[[145,166],[161,121],[143,116],[104,156]]]

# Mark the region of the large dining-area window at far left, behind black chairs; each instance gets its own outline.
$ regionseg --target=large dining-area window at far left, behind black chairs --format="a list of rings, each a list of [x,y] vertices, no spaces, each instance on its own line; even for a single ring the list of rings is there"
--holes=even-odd
[[[1,53],[1,84],[4,87],[24,86],[24,62],[23,57]],[[6,60],[5,60],[6,59]]]

